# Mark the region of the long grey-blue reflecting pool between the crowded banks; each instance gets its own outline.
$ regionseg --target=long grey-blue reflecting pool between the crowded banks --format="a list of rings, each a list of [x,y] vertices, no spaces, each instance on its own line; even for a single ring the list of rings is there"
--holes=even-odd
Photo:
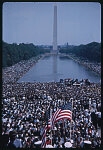
[[[65,78],[100,82],[100,76],[93,71],[68,57],[59,55],[40,59],[18,82],[52,82]]]

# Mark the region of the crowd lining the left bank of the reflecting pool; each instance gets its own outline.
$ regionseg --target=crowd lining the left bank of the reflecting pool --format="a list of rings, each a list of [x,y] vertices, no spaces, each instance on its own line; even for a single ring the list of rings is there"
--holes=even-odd
[[[2,82],[17,82],[29,69],[42,57],[33,57],[29,60],[22,60],[19,63],[2,69]]]

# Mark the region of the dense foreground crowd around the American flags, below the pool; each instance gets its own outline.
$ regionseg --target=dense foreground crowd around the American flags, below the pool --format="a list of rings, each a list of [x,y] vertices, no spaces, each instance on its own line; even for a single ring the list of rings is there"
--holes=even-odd
[[[101,127],[101,87],[88,80],[72,79],[51,83],[9,83],[3,84],[2,138],[3,146],[35,148],[41,144],[42,127],[49,107],[53,112],[59,106],[73,99],[72,125],[64,119],[55,124],[52,132],[52,146],[92,148],[101,144],[98,129]],[[50,144],[50,131],[47,135]],[[39,144],[38,144],[39,143]],[[89,143],[89,144],[88,144]]]

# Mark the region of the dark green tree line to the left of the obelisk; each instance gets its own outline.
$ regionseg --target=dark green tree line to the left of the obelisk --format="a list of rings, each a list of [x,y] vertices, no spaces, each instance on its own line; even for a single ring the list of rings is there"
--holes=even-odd
[[[3,42],[2,44],[2,66],[12,66],[21,60],[28,60],[39,54],[50,52],[49,49],[43,49],[39,46],[35,46],[32,43],[17,45],[16,43],[8,44]]]

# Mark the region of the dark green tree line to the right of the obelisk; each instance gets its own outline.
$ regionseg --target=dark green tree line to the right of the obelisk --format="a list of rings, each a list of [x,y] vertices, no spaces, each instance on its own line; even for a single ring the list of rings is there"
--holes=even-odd
[[[93,62],[101,62],[101,44],[92,42],[87,45],[69,46],[60,49],[60,53],[74,54]]]

